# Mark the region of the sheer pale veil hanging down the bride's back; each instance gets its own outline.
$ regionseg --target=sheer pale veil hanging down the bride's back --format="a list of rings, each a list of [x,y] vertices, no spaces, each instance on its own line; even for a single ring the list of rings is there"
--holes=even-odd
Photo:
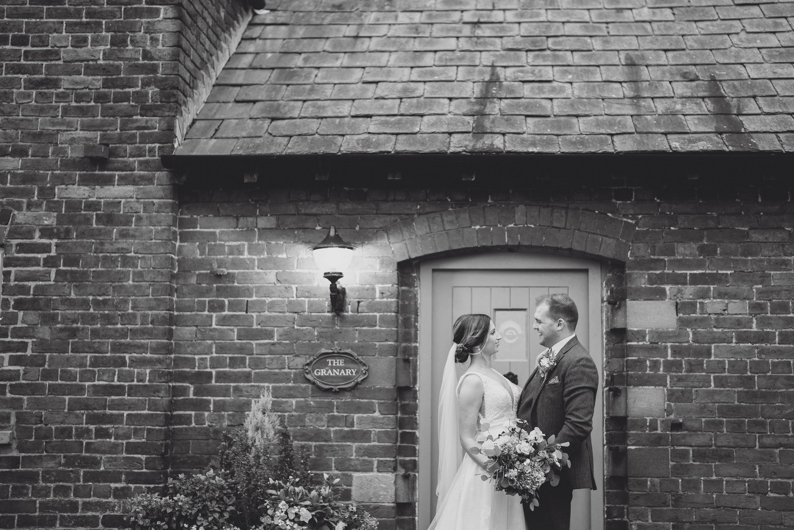
[[[457,370],[453,342],[441,376],[438,391],[438,477],[436,494],[442,501],[452,486],[453,478],[463,459],[463,447],[457,432]]]

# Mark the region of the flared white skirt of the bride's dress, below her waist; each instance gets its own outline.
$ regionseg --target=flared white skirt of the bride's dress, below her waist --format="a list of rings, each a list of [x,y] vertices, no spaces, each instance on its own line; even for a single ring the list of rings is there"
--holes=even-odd
[[[521,497],[496,491],[484,481],[482,468],[468,455],[449,487],[428,530],[525,530]]]

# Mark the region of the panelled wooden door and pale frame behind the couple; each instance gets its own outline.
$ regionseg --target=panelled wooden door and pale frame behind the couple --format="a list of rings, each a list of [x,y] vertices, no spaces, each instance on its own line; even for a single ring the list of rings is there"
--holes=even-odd
[[[430,296],[420,296],[420,356],[424,356],[420,358],[420,440],[427,441],[430,438],[430,443],[420,441],[420,485],[425,487],[420,486],[419,528],[426,528],[430,524],[437,503],[435,487],[438,449],[435,441],[435,416],[441,373],[445,355],[452,342],[452,325],[455,319],[465,313],[484,313],[491,316],[497,330],[503,335],[493,366],[499,373],[511,371],[517,374],[518,385],[523,386],[534,370],[535,358],[543,350],[538,344],[537,333],[532,329],[535,299],[542,294],[565,292],[576,301],[580,312],[576,336],[593,353],[591,283],[595,272],[592,269],[599,267],[592,263],[589,264],[592,266],[582,267],[580,261],[576,263],[579,266],[572,267],[574,264],[565,259],[549,263],[549,257],[533,259],[529,254],[491,253],[485,259],[470,257],[467,261],[467,258],[453,258],[422,267],[422,293]],[[599,282],[596,281],[595,292],[599,293],[598,285]],[[600,315],[600,295],[594,298],[595,315]],[[595,327],[600,329],[599,317]],[[599,333],[595,335],[599,336]],[[595,350],[598,357],[594,356],[594,360],[600,371],[600,344]],[[458,369],[462,374],[465,366],[459,366]],[[600,401],[600,393],[598,398]],[[597,403],[595,416],[599,427],[598,430],[594,427],[592,434],[594,447],[601,446],[600,441],[603,439],[601,411],[601,405]],[[426,417],[422,417],[428,415],[429,422]],[[422,425],[430,428],[422,429]],[[422,453],[428,452],[429,458],[422,458]],[[595,453],[599,456],[603,454],[602,451]],[[424,467],[429,469],[423,469]],[[596,467],[600,468],[597,473],[603,476],[603,463]],[[422,494],[422,489],[426,491],[425,494]],[[593,495],[603,495],[603,489],[599,487],[599,491],[593,492]],[[575,492],[571,530],[603,528],[603,516],[600,513],[592,514],[592,509],[603,511],[603,502],[593,503],[590,497],[592,495],[588,490]],[[601,525],[594,526],[591,520],[600,520]]]

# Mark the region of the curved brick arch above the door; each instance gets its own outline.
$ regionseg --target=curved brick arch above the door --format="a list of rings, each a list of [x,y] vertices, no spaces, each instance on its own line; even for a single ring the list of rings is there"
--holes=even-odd
[[[387,235],[397,261],[450,250],[526,246],[627,261],[634,223],[566,207],[464,207],[394,222]]]

